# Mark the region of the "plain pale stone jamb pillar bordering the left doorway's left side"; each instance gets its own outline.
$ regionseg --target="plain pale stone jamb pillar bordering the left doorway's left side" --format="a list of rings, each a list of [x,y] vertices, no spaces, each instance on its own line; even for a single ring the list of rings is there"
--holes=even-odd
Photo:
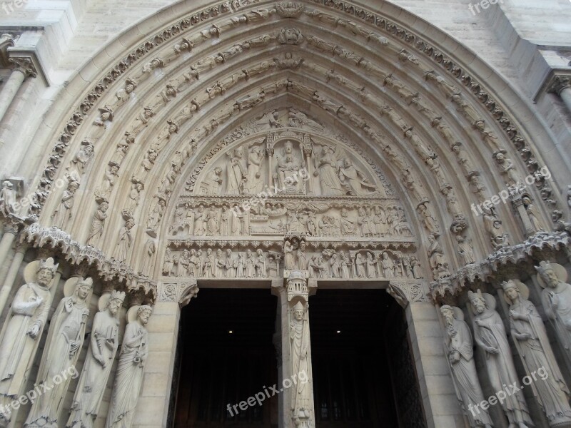
[[[133,427],[166,427],[181,307],[198,293],[196,280],[158,284],[158,300],[148,321],[148,356]]]

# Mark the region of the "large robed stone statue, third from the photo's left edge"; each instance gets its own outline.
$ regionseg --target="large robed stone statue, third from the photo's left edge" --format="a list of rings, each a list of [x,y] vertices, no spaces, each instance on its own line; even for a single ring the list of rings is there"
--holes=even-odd
[[[93,428],[107,379],[118,348],[118,311],[125,292],[113,291],[100,298],[100,310],[91,327],[91,342],[71,404],[67,428]]]

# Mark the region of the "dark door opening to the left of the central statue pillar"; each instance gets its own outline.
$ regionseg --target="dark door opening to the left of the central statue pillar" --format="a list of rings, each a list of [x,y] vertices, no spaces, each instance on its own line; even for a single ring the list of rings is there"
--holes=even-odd
[[[181,314],[176,428],[278,427],[278,397],[229,413],[278,382],[270,290],[202,289]]]

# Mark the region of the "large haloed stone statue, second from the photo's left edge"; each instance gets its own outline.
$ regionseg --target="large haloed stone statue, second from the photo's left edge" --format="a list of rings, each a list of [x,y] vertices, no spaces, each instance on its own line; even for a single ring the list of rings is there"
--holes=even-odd
[[[73,294],[59,302],[56,312],[51,317],[44,355],[36,378],[36,384],[49,387],[49,392],[40,394],[32,404],[30,414],[24,427],[57,427],[61,407],[69,379],[59,384],[54,377],[75,367],[79,358],[81,345],[84,343],[85,327],[89,317],[89,297],[94,282],[91,278],[79,278]]]

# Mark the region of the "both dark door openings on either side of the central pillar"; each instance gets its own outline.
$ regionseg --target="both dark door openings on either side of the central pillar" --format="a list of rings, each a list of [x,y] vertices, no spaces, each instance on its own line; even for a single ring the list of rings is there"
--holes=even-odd
[[[290,392],[278,381],[277,305],[269,290],[201,289],[181,315],[171,426],[280,427],[279,395]],[[309,305],[316,427],[425,427],[395,300],[319,290]]]

